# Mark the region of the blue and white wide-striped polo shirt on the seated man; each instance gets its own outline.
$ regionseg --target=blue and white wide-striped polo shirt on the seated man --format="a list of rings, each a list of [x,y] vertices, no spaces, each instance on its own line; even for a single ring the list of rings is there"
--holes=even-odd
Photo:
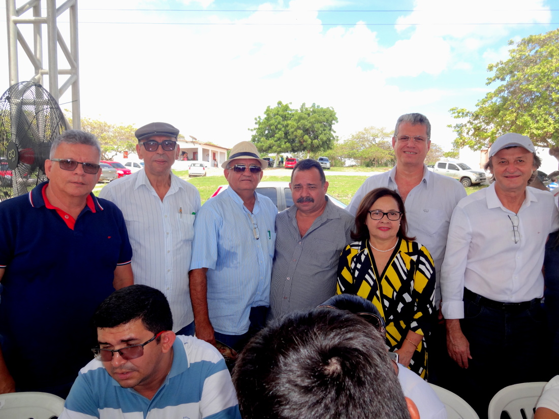
[[[60,419],[240,419],[237,397],[225,361],[207,342],[177,336],[173,364],[151,400],[133,388],[122,388],[90,361],[82,370]]]

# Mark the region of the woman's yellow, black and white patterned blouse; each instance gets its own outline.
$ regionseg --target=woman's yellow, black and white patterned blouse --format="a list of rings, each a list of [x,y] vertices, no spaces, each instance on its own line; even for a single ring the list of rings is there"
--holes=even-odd
[[[337,292],[375,304],[385,320],[391,351],[400,348],[408,331],[423,335],[408,368],[427,379],[425,335],[434,322],[435,267],[424,246],[399,239],[380,274],[369,241],[353,242],[340,255]]]

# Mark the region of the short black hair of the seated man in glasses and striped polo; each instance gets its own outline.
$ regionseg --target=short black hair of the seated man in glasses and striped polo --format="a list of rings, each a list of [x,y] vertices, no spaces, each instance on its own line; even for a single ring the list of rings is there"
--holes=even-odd
[[[153,334],[173,330],[173,315],[167,298],[148,285],[134,284],[105,298],[93,314],[93,327],[111,328],[141,320]]]

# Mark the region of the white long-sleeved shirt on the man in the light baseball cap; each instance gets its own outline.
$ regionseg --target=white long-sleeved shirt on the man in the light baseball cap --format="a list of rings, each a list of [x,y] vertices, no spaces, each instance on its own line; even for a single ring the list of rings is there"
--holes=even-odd
[[[518,214],[501,204],[494,183],[462,199],[452,214],[442,268],[444,317],[464,317],[464,287],[505,303],[541,298],[544,246],[557,228],[559,213],[547,191],[527,187]]]

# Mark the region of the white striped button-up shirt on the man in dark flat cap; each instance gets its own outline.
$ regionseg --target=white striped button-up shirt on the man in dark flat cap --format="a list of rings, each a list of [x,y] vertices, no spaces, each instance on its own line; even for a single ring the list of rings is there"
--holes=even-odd
[[[132,245],[134,283],[157,288],[169,301],[173,331],[194,320],[188,268],[194,220],[200,193],[194,185],[171,174],[163,202],[145,170],[113,180],[99,194],[122,211]]]

